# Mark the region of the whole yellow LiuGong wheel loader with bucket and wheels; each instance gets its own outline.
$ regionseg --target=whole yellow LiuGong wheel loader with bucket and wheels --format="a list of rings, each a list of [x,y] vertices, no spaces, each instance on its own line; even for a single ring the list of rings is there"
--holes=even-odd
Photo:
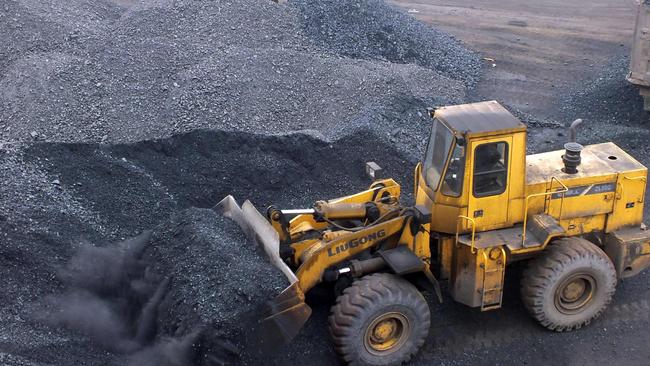
[[[217,208],[260,244],[290,284],[263,324],[294,337],[323,282],[340,293],[329,318],[334,347],[353,365],[408,361],[430,324],[420,291],[481,311],[501,307],[506,266],[528,262],[521,296],[555,331],[602,313],[618,279],[650,265],[642,223],[647,169],[613,143],[581,146],[571,126],[565,149],[526,155],[526,126],[495,101],[431,112],[415,205],[400,186],[375,179],[351,196],[312,208],[260,214],[226,197]],[[379,167],[366,166],[378,178]]]

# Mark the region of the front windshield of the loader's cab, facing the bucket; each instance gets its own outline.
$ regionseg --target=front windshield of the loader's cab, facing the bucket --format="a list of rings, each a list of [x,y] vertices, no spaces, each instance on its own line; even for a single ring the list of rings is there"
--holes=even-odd
[[[433,120],[431,137],[424,157],[424,180],[429,188],[436,190],[440,182],[440,175],[445,168],[447,155],[451,148],[454,135],[437,119]]]

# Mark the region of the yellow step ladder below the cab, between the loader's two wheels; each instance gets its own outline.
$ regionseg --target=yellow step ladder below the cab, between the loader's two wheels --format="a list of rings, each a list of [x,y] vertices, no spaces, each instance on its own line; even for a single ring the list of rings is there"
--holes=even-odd
[[[491,259],[488,254],[491,251],[482,251],[483,263],[480,265],[483,272],[481,311],[499,309],[503,301],[506,252],[503,247],[493,248],[492,250],[501,251],[499,258]]]

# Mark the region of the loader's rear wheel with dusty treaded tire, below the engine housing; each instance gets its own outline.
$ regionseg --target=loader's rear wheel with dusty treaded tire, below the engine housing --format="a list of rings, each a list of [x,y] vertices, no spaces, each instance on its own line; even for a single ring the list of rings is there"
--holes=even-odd
[[[540,324],[563,332],[597,318],[616,291],[616,271],[602,249],[582,238],[556,240],[521,281],[524,306]]]

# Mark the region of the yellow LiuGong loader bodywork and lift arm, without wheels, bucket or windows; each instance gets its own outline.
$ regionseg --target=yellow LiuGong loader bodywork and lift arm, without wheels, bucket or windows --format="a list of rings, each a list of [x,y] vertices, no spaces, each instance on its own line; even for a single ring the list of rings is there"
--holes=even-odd
[[[474,118],[479,128],[454,130],[454,126],[472,126],[459,121],[459,116]],[[495,116],[507,118],[504,128],[499,128]],[[376,256],[380,250],[397,246],[408,247],[428,264],[427,274],[449,279],[456,301],[481,310],[501,306],[506,264],[542,253],[559,236],[599,234],[598,244],[607,246],[621,276],[650,266],[650,234],[640,229],[647,168],[615,144],[584,147],[578,173],[567,174],[562,170],[564,150],[527,156],[526,126],[495,102],[443,108],[434,117],[453,132],[458,145],[452,144],[450,154],[462,147],[464,170],[462,188],[452,197],[443,194],[441,187],[429,187],[422,165],[415,167],[415,203],[430,210],[430,223],[413,228],[415,216],[407,215],[407,208],[400,205],[400,186],[392,179],[375,181],[363,192],[327,201],[372,202],[385,218],[377,223],[365,221],[355,230],[346,230],[331,221],[318,221],[315,215],[301,214],[290,221],[288,232],[283,232],[279,222],[271,221],[280,240],[291,243],[293,256],[287,261],[292,262],[303,293],[323,281],[328,269],[362,253]],[[507,146],[505,190],[476,197],[475,152],[482,144],[494,142]],[[441,171],[439,186],[445,184],[442,177],[450,161],[446,160]],[[363,211],[360,205],[332,209],[344,215]],[[534,236],[532,230],[528,232],[528,224],[546,234],[534,245],[526,242],[527,235]]]

